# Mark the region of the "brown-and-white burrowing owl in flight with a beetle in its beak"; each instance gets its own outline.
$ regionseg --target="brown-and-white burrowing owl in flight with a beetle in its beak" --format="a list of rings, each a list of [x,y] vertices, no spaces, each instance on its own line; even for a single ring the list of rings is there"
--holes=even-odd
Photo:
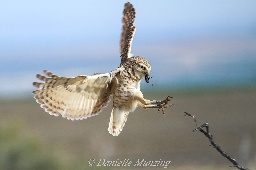
[[[49,76],[37,74],[36,77],[44,83],[34,82],[39,89],[33,91],[37,103],[41,104],[50,115],[71,120],[86,119],[98,115],[107,107],[113,95],[113,107],[108,131],[118,136],[122,131],[129,112],[140,105],[142,108],[158,108],[164,113],[166,105],[171,100],[147,100],[140,91],[140,81],[145,78],[149,83],[151,66],[139,56],[130,56],[131,43],[135,33],[135,9],[127,2],[124,6],[123,32],[121,35],[121,64],[118,68],[105,74],[92,76],[59,77],[49,71]]]

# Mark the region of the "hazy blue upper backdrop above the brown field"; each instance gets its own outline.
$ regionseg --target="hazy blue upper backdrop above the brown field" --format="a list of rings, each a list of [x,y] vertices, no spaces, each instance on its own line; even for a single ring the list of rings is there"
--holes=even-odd
[[[118,67],[125,2],[1,1],[0,94],[35,90],[43,69],[77,76]],[[132,53],[151,63],[154,85],[255,81],[256,1],[130,2]]]

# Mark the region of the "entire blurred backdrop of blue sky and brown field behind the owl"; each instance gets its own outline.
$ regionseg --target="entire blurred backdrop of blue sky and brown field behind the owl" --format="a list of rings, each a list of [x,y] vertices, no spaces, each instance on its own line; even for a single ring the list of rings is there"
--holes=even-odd
[[[174,97],[165,116],[138,108],[120,136],[112,137],[111,102],[83,121],[50,116],[36,103],[32,82],[44,69],[77,76],[119,66],[125,2],[0,2],[1,168],[86,169],[92,158],[145,158],[172,161],[168,168],[173,169],[228,169],[231,163],[208,146],[208,139],[192,133],[196,126],[182,117],[184,111],[196,115],[199,124],[209,122],[217,144],[255,168],[253,0],[130,1],[136,9],[131,52],[151,63],[154,76],[154,86],[142,80],[141,91],[149,100]]]

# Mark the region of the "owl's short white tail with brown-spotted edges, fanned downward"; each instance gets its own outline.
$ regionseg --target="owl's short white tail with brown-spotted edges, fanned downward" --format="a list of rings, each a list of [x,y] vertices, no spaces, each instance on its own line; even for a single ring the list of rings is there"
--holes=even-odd
[[[129,112],[121,111],[117,107],[112,108],[108,126],[108,131],[110,134],[113,136],[118,136],[120,134],[120,132],[123,130],[128,114]]]

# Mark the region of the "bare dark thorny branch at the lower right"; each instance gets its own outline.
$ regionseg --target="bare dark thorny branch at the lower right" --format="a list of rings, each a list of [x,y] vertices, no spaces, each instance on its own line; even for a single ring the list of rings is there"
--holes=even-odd
[[[184,116],[191,116],[191,117],[194,118],[194,121],[195,121],[195,123],[196,123],[197,128],[196,128],[195,130],[193,130],[193,132],[199,130],[200,132],[204,133],[204,135],[205,135],[206,137],[208,137],[208,139],[209,139],[210,142],[211,142],[211,145],[210,145],[210,146],[216,148],[217,151],[221,153],[221,155],[223,155],[223,156],[224,156],[225,158],[227,158],[230,162],[232,162],[232,163],[233,163],[232,166],[237,167],[238,169],[241,169],[241,170],[249,170],[249,169],[247,169],[247,168],[245,168],[245,167],[243,167],[243,166],[240,166],[240,165],[238,164],[238,162],[237,162],[234,158],[232,158],[230,155],[228,155],[227,152],[224,152],[224,151],[220,148],[220,146],[217,145],[216,142],[214,142],[213,136],[212,136],[212,134],[210,134],[209,123],[208,123],[208,122],[204,123],[202,126],[199,126],[198,123],[197,123],[197,121],[196,121],[196,117],[195,117],[194,115],[188,114],[187,112],[184,112],[184,113],[185,113]],[[206,131],[204,131],[204,130],[202,129],[203,127],[206,128]],[[230,166],[230,167],[231,167],[231,166]]]

